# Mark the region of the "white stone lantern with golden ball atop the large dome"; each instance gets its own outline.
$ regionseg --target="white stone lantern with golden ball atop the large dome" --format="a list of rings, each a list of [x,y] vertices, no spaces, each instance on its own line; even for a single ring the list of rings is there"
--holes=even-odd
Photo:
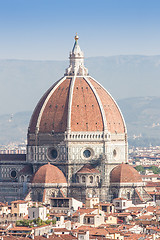
[[[84,54],[80,49],[80,46],[78,44],[79,37],[75,36],[75,43],[73,46],[73,49],[70,53],[69,59],[70,59],[70,65],[66,69],[65,75],[80,75],[80,76],[86,76],[88,75],[88,69],[84,66]]]

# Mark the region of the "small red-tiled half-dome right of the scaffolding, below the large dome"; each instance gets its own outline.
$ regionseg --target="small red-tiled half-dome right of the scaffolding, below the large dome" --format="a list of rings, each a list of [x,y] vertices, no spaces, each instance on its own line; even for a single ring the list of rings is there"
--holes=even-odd
[[[122,163],[112,169],[111,183],[137,183],[142,182],[139,172],[128,164]]]

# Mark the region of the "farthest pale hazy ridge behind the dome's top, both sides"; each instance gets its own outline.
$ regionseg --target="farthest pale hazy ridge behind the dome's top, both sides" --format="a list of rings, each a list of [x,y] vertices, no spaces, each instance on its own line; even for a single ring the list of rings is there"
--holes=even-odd
[[[31,110],[63,76],[68,61],[0,60],[0,115]],[[160,96],[160,56],[85,59],[85,65],[115,99]]]

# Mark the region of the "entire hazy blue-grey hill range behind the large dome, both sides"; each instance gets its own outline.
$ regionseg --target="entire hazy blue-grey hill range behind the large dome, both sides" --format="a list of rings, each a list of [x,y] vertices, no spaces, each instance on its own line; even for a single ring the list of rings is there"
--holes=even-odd
[[[130,143],[159,144],[160,56],[95,57],[85,63],[90,75],[119,99]],[[0,144],[26,139],[33,109],[68,64],[0,60]]]

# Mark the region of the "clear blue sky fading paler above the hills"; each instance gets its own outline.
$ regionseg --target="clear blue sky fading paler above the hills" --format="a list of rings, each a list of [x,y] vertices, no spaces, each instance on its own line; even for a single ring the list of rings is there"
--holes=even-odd
[[[0,59],[160,55],[160,0],[0,0]]]

